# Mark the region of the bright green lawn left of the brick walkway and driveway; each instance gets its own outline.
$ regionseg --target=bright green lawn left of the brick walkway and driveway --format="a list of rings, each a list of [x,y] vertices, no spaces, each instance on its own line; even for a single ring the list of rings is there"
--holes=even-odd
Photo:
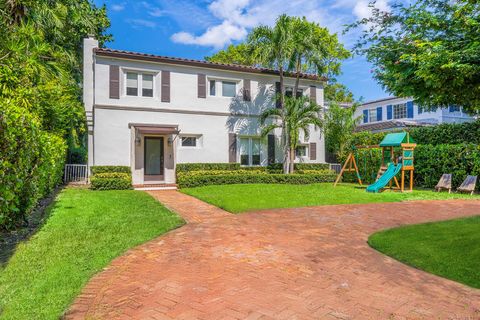
[[[0,270],[2,319],[58,319],[127,249],[183,224],[139,191],[65,189],[45,225]]]

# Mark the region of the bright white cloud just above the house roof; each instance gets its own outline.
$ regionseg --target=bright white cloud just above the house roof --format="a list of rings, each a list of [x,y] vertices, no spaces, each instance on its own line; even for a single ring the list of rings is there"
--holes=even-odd
[[[218,49],[232,41],[241,40],[246,35],[247,30],[245,28],[224,21],[220,25],[208,28],[200,36],[194,36],[188,32],[178,32],[172,35],[172,40],[177,43],[196,44]]]

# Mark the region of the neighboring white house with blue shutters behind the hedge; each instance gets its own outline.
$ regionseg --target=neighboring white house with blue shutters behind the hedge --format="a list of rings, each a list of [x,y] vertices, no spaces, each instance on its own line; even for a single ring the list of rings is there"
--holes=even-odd
[[[438,108],[425,111],[412,98],[390,97],[360,105],[355,117],[360,118],[357,131],[391,131],[406,127],[430,126],[441,123],[472,121],[461,107]]]

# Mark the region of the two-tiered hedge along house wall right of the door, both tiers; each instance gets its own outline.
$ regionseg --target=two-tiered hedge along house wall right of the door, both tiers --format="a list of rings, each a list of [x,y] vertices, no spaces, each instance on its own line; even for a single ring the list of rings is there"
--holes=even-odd
[[[241,167],[238,163],[177,165],[177,184],[180,188],[220,184],[282,183],[310,184],[335,181],[328,164],[298,164],[295,174],[282,173],[282,165]]]

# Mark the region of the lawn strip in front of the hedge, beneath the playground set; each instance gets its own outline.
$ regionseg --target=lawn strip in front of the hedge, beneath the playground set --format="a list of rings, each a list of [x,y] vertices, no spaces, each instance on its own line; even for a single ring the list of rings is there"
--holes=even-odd
[[[356,188],[352,184],[338,185],[334,188],[333,183],[310,185],[237,184],[185,188],[181,191],[232,213],[330,204],[456,198],[480,199],[479,196],[438,193],[429,190],[415,190],[411,193],[385,191],[374,194],[367,193],[365,189]]]

